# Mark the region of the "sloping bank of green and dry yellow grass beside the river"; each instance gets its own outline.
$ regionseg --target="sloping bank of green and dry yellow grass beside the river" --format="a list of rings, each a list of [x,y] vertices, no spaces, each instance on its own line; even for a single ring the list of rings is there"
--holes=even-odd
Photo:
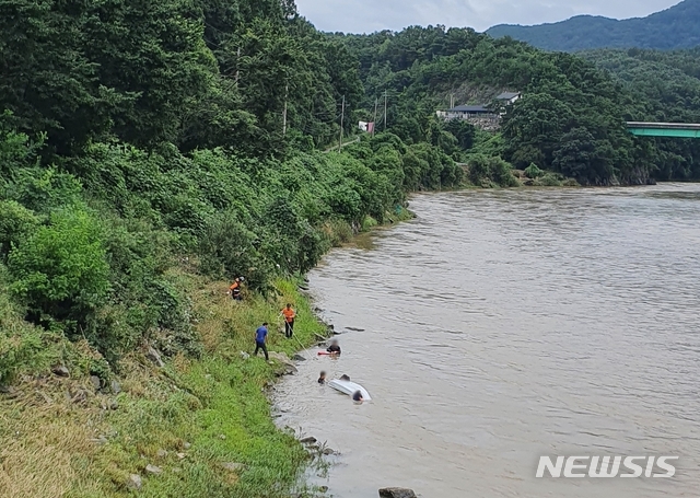
[[[145,349],[136,350],[120,362],[118,394],[96,392],[84,367],[70,361],[70,378],[20,377],[0,398],[1,496],[127,496],[131,475],[141,477],[144,497],[289,496],[310,456],[270,416],[265,387],[281,366],[241,351],[252,352],[264,321],[271,351],[299,349],[277,332],[287,302],[298,310],[295,335],[304,345],[326,326],[290,280],[276,281],[267,299],[235,303],[225,282],[175,278],[191,291],[201,358],[177,356],[158,368]],[[71,347],[82,348],[72,355],[80,361],[94,354],[86,344]]]

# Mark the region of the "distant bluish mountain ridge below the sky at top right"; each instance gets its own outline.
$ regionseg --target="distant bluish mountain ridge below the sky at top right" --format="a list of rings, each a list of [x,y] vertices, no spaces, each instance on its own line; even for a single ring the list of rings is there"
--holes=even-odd
[[[646,18],[615,19],[578,15],[537,26],[500,24],[488,32],[494,38],[511,36],[546,50],[591,48],[691,48],[700,45],[700,0],[685,0]]]

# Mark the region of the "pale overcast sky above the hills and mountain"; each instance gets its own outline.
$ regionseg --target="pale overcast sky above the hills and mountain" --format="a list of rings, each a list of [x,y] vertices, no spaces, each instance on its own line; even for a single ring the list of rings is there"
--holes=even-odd
[[[578,14],[643,18],[679,0],[296,0],[318,30],[345,33],[399,31],[444,24],[481,32],[495,24],[541,24]]]

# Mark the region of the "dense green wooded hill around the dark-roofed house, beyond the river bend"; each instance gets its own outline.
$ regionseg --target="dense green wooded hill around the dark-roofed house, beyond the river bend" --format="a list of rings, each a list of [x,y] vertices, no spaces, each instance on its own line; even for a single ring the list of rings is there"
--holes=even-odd
[[[366,92],[362,107],[371,108],[375,97],[387,92],[389,128],[407,143],[427,140],[446,149],[445,135],[433,131],[446,126],[451,140],[465,150],[457,157],[475,166],[470,176],[476,184],[485,176],[509,177],[499,173],[504,167],[500,160],[521,170],[534,165],[535,171],[551,171],[585,185],[700,175],[693,144],[639,140],[627,132],[626,120],[660,117],[657,109],[664,105],[660,96],[626,84],[583,58],[441,26],[336,38],[360,60]],[[679,99],[675,86],[667,83],[667,88]],[[438,125],[431,117],[451,97],[458,103],[488,103],[503,90],[520,91],[524,97],[503,109],[495,136],[485,137],[455,123]],[[666,106],[664,118],[689,118],[682,107],[679,100]],[[481,173],[489,163],[495,172]]]

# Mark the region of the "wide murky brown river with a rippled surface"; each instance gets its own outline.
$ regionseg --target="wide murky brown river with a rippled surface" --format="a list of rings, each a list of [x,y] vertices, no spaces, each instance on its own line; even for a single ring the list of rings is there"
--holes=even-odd
[[[341,454],[337,498],[697,497],[700,185],[417,195],[310,275],[342,357],[276,387]],[[347,373],[373,399],[316,383]],[[677,455],[672,478],[535,478],[540,455]],[[661,472],[661,471],[657,471]]]

